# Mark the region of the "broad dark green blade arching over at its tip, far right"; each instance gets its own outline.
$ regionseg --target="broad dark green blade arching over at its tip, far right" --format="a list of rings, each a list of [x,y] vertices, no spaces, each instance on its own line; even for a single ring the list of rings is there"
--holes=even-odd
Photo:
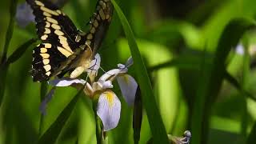
[[[202,76],[194,100],[191,130],[193,138],[191,143],[207,142],[211,106],[218,96],[226,70],[226,58],[230,49],[237,45],[242,34],[254,26],[254,22],[248,19],[234,19],[225,27],[218,42],[213,65],[203,66]]]

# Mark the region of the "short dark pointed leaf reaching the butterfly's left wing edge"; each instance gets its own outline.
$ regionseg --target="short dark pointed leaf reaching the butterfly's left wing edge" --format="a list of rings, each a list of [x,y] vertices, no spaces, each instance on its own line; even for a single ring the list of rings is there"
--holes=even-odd
[[[22,46],[19,46],[13,54],[10,55],[10,57],[7,59],[7,64],[16,62],[18,58],[22,57],[22,54],[26,52],[26,50],[32,46],[35,42],[37,42],[37,38],[31,38],[27,42],[23,43]],[[34,44],[35,45],[35,44]],[[34,46],[33,45],[33,46]]]

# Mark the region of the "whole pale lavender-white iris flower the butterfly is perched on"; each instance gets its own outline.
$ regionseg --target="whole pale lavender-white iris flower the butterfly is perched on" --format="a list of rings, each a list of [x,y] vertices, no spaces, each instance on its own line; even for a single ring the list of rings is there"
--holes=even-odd
[[[97,114],[103,123],[103,130],[108,131],[118,126],[121,113],[121,102],[117,95],[110,89],[113,88],[112,82],[117,79],[122,95],[126,102],[132,106],[138,87],[137,82],[129,74],[126,74],[128,67],[133,64],[133,59],[129,58],[125,65],[118,64],[117,69],[109,70],[103,74],[98,81],[94,82],[100,67],[100,56],[95,55],[94,61],[90,65],[90,69],[86,70],[88,77],[92,83],[83,79],[61,78],[54,79],[49,82],[52,86],[84,86],[84,92],[92,99],[98,100]],[[49,98],[48,98],[49,99]],[[46,105],[46,103],[42,103]],[[46,107],[46,106],[42,106]],[[42,110],[44,111],[44,110]]]

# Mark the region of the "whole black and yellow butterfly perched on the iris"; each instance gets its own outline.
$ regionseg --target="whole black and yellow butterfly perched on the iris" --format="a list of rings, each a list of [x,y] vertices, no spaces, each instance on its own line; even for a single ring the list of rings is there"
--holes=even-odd
[[[90,19],[90,30],[83,33],[57,6],[46,0],[26,0],[35,16],[38,37],[42,43],[34,48],[32,77],[42,82],[74,70],[77,77],[87,69],[95,51],[102,44],[110,25],[113,5],[99,0]]]

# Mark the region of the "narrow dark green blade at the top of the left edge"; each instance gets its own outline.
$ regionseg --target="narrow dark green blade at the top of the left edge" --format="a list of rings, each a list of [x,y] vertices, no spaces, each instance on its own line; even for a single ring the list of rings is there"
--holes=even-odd
[[[11,0],[10,1],[10,21],[9,21],[8,29],[6,31],[6,43],[5,43],[5,46],[3,47],[2,60],[1,60],[0,63],[6,61],[7,50],[8,50],[8,47],[10,45],[10,39],[13,36],[14,20],[15,20],[17,2],[18,2],[18,0]]]

